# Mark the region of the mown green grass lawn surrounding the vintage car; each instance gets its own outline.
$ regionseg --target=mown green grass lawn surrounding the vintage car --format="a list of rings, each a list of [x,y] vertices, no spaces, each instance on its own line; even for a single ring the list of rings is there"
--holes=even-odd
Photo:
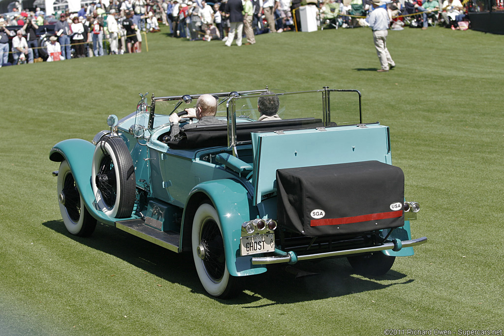
[[[379,74],[369,29],[257,36],[253,46],[149,34],[149,52],[0,69],[0,335],[382,335],[384,329],[504,327],[504,36],[391,31],[397,67]],[[112,227],[67,233],[51,147],[91,140],[138,93],[358,89],[364,121],[391,128],[412,222],[427,244],[386,276],[346,259],[249,277],[208,297],[192,257]],[[337,101],[332,100],[336,107]],[[90,167],[91,169],[91,167]]]

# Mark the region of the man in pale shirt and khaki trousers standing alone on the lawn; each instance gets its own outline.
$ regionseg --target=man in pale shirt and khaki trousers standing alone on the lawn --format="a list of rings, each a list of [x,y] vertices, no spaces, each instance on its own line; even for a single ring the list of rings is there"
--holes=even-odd
[[[374,46],[382,65],[382,68],[378,69],[377,72],[388,72],[389,69],[396,66],[396,63],[390,56],[389,49],[387,49],[387,35],[389,34],[387,30],[390,24],[389,14],[385,8],[381,7],[383,6],[381,0],[371,0],[371,4],[374,10],[369,15],[369,27],[373,30]]]

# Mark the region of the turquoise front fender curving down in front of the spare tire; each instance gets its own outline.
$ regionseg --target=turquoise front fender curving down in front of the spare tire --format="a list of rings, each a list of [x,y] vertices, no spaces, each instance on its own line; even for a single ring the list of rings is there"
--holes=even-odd
[[[115,222],[103,212],[93,206],[95,196],[91,188],[91,165],[95,146],[89,141],[82,139],[64,140],[54,145],[49,153],[49,159],[54,162],[66,160],[72,169],[75,184],[81,197],[84,199],[86,209],[97,221],[109,225]]]

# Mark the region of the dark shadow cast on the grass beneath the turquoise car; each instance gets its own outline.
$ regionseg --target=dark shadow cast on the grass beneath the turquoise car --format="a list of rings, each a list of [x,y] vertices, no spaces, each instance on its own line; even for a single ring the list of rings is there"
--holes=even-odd
[[[198,279],[191,253],[177,254],[104,224],[98,224],[93,235],[87,238],[70,234],[61,220],[45,222],[43,225],[78,243],[131,263],[167,282],[209,296]],[[414,281],[405,278],[406,275],[394,270],[376,278],[355,275],[346,258],[308,261],[294,266],[276,264],[270,265],[266,273],[240,278],[242,291],[235,298],[216,300],[223,304],[254,308],[339,297],[407,285]],[[263,299],[268,302],[264,303]]]

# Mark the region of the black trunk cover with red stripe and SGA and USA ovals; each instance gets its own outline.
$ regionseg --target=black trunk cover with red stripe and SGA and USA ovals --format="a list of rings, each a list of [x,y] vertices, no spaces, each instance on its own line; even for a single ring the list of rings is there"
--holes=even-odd
[[[277,170],[278,225],[305,236],[404,225],[404,173],[379,161]]]

